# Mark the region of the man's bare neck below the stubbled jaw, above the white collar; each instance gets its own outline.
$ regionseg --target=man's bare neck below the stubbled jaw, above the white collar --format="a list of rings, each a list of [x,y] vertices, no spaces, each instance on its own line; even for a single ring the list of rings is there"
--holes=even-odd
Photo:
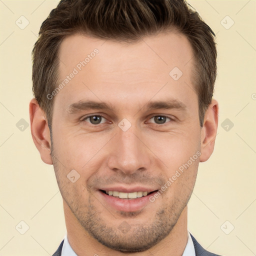
[[[145,256],[150,252],[149,254],[154,256],[181,256],[187,243],[187,206],[165,238],[149,250],[136,253],[123,253],[104,246],[81,226],[65,201],[63,207],[68,242],[77,255]]]

